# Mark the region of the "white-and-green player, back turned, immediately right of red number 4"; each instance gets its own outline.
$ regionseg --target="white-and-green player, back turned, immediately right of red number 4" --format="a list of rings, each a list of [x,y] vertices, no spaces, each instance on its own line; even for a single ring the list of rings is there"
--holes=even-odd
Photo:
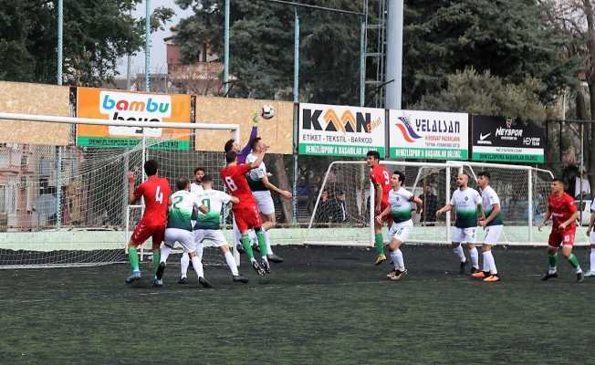
[[[167,227],[165,228],[165,239],[163,240],[163,247],[161,250],[161,262],[157,268],[157,273],[154,281],[156,287],[163,285],[163,272],[167,265],[167,258],[172,253],[173,245],[178,242],[183,246],[183,255],[190,254],[190,259],[193,262],[194,271],[198,276],[198,282],[203,287],[211,287],[211,284],[204,278],[203,264],[198,255],[196,255],[196,244],[194,244],[193,236],[193,211],[206,213],[208,209],[202,205],[193,193],[190,193],[190,180],[187,177],[178,178],[175,182],[177,191],[172,193],[170,197],[170,209],[167,215]]]

